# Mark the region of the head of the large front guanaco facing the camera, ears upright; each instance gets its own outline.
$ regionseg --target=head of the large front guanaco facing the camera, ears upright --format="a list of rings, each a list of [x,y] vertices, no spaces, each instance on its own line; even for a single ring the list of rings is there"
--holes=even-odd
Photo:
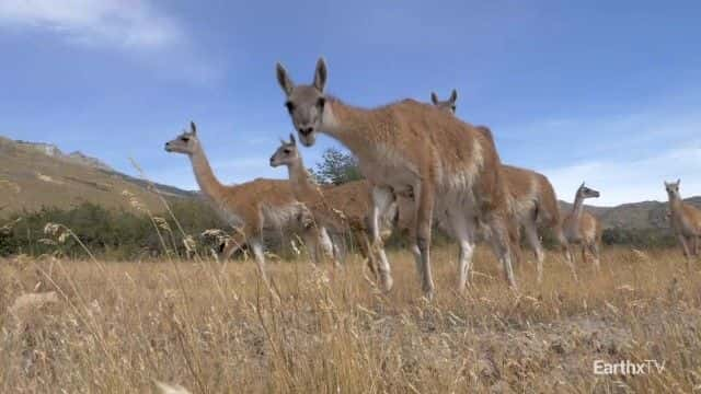
[[[317,139],[317,131],[321,128],[326,97],[326,63],[323,58],[317,61],[314,80],[309,85],[295,85],[283,65],[277,63],[277,82],[283,88],[287,101],[285,107],[292,119],[295,129],[299,132],[299,140],[304,147],[311,147]]]

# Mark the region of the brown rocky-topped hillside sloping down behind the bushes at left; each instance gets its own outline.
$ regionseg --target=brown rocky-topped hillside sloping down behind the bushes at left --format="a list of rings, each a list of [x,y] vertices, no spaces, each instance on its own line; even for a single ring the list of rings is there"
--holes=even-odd
[[[195,192],[156,184],[162,195],[195,198]],[[0,137],[0,215],[45,207],[69,208],[93,202],[134,209],[123,192],[152,211],[163,210],[147,182],[119,173],[81,152],[64,153],[56,146]]]

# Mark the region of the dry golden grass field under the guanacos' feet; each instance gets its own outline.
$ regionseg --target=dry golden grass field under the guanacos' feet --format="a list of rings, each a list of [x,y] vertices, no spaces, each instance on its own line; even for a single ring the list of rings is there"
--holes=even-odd
[[[692,392],[701,389],[701,276],[678,251],[610,248],[579,281],[552,253],[509,290],[492,254],[453,288],[457,250],[434,251],[421,298],[410,254],[394,289],[364,264],[274,262],[279,302],[252,262],[0,260],[0,391],[143,393]],[[16,301],[56,291],[54,300]],[[594,360],[663,372],[596,375]]]

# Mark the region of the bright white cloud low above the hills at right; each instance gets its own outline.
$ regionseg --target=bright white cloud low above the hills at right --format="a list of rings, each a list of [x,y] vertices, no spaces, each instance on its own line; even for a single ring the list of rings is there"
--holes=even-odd
[[[613,206],[643,200],[667,199],[663,182],[681,178],[681,195],[701,195],[701,143],[670,149],[658,155],[633,161],[587,161],[542,171],[558,197],[572,201],[579,184],[601,193],[593,205]]]

